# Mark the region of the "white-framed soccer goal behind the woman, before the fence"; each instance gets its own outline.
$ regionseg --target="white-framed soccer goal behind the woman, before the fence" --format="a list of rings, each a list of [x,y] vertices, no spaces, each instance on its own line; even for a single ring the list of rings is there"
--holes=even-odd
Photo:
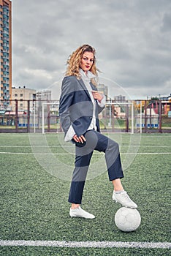
[[[59,100],[42,103],[42,133],[62,132],[58,115]],[[106,108],[99,114],[101,132],[134,133],[134,101],[114,102],[107,100]]]

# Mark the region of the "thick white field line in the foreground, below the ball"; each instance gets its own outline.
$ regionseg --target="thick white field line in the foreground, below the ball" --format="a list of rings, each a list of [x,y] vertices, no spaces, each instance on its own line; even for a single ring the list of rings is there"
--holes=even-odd
[[[0,246],[50,246],[71,248],[161,248],[170,249],[171,243],[154,242],[120,242],[120,241],[26,241],[26,240],[0,240]]]

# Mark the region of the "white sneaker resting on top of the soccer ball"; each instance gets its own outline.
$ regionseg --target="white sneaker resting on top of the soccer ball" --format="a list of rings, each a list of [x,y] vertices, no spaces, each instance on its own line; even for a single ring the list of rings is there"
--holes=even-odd
[[[137,204],[131,200],[126,191],[123,191],[121,193],[116,193],[115,191],[113,191],[113,201],[121,203],[122,206],[128,208],[137,208]]]

